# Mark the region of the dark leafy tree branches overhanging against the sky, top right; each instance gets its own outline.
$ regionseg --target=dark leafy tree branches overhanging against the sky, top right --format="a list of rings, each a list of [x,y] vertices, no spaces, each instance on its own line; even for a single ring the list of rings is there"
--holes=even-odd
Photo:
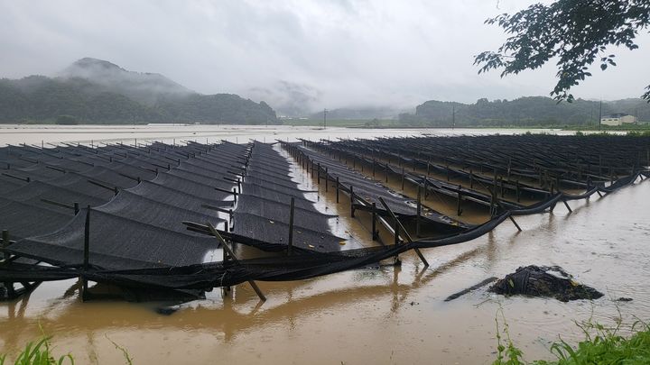
[[[616,66],[608,46],[635,50],[639,32],[650,25],[648,0],[558,0],[535,4],[516,14],[487,19],[509,37],[497,51],[484,51],[474,59],[478,73],[502,69],[501,77],[540,68],[557,59],[558,82],[551,92],[556,101],[571,102],[571,87],[591,76],[590,66],[602,70]],[[650,102],[650,86],[642,96]]]

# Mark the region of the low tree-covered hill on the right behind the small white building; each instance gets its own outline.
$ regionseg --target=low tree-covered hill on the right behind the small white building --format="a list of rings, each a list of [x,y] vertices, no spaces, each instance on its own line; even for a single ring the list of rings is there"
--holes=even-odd
[[[641,99],[603,101],[602,114],[627,113],[638,115],[639,121],[650,121],[650,105]],[[577,99],[573,103],[557,104],[550,97],[530,96],[518,99],[479,99],[474,104],[428,101],[418,105],[415,114],[400,114],[402,123],[448,127],[507,126],[507,125],[589,125],[597,124],[599,102]]]

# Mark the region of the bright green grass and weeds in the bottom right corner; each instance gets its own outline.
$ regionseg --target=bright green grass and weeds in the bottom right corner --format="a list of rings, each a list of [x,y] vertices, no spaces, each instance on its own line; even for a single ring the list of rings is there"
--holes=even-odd
[[[503,311],[499,311],[503,317]],[[634,333],[625,338],[620,335],[622,327],[620,319],[614,327],[606,327],[588,321],[576,323],[585,334],[585,340],[577,346],[571,346],[562,340],[551,345],[551,352],[556,360],[524,360],[524,352],[516,347],[510,338],[505,319],[500,328],[498,314],[497,322],[497,360],[494,365],[582,365],[582,364],[650,364],[650,325],[636,321],[630,327]]]

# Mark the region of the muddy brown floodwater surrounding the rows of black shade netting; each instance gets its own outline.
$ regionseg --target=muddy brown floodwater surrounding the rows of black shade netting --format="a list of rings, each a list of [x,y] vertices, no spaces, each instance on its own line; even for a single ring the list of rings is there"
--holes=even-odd
[[[5,128],[0,127],[0,145],[135,138],[176,138],[180,142],[191,136],[197,141],[244,142],[287,136],[290,140],[315,140],[420,132],[508,132],[299,127],[224,127],[222,131],[209,126]],[[295,176],[303,187],[323,188],[298,169]],[[251,287],[242,284],[228,296],[215,289],[206,300],[183,305],[167,316],[155,313],[157,304],[82,303],[74,280],[44,283],[30,297],[0,303],[0,352],[19,351],[38,338],[42,328],[54,335],[55,353],[70,351],[77,363],[124,363],[115,342],[136,364],[482,364],[497,356],[495,317],[502,311],[510,336],[524,351],[525,359],[552,359],[548,347],[559,335],[569,342],[582,338],[573,321],[592,318],[614,324],[620,315],[624,324],[632,324],[636,318],[650,322],[649,197],[650,183],[637,181],[609,196],[570,202],[573,213],[557,205],[552,213],[518,216],[521,233],[506,221],[477,240],[423,250],[431,263],[428,269],[422,268],[417,256],[407,253],[402,255],[401,267],[386,265],[302,281],[261,282],[268,298],[264,304],[258,302]],[[328,202],[327,206],[341,215],[339,224],[343,226],[339,229],[363,241],[365,231],[362,224],[348,218],[345,199],[337,206],[332,198],[330,190],[317,206],[324,209]],[[482,288],[444,302],[445,297],[484,278],[501,277],[529,264],[562,266],[605,297],[561,303],[498,297]],[[616,301],[619,297],[634,300]]]

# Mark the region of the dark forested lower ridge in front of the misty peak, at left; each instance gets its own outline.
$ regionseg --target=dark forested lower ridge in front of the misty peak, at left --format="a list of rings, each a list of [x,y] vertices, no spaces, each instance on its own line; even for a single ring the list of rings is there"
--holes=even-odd
[[[168,96],[145,105],[84,78],[0,79],[0,123],[59,123],[60,115],[79,123],[278,123],[269,105],[237,95]]]

